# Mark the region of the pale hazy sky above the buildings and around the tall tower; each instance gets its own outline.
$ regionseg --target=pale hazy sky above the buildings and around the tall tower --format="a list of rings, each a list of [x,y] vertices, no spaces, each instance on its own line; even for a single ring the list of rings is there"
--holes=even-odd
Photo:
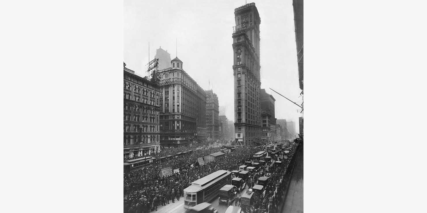
[[[292,0],[254,2],[260,14],[261,89],[273,95],[277,119],[293,120],[299,132],[300,109],[269,89],[301,105]],[[125,0],[124,57],[126,67],[145,76],[145,65],[160,46],[178,58],[184,70],[203,89],[218,95],[219,106],[234,121],[233,39],[234,9],[244,0]],[[150,51],[148,51],[150,43]],[[297,111],[298,110],[298,111]]]

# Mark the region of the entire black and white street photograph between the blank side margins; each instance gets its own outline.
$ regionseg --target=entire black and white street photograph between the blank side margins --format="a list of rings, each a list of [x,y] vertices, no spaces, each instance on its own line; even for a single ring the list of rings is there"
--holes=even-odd
[[[302,213],[303,0],[123,17],[123,212]]]

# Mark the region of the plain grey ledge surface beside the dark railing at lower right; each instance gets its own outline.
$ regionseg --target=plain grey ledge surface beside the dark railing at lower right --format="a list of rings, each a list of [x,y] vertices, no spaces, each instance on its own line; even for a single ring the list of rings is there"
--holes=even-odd
[[[303,148],[303,147],[301,147]],[[303,211],[303,191],[304,191],[304,152],[299,150],[295,163],[295,168],[292,173],[292,178],[289,184],[288,193],[285,200],[285,206],[281,213],[302,213]]]

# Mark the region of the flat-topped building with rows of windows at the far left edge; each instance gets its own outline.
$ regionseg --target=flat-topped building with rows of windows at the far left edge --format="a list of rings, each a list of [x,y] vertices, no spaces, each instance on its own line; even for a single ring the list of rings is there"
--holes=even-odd
[[[160,152],[160,86],[123,63],[123,157]]]

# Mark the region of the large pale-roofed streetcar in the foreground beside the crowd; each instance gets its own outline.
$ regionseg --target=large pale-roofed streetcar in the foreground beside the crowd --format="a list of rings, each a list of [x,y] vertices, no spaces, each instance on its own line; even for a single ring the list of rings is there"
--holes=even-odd
[[[231,184],[231,172],[226,170],[218,170],[192,182],[184,189],[184,208],[211,201],[226,184]]]

